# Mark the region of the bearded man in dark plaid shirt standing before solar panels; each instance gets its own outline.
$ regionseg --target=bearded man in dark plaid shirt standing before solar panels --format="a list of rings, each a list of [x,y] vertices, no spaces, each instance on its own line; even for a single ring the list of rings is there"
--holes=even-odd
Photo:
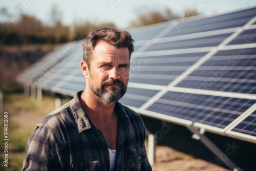
[[[37,124],[22,170],[152,170],[143,121],[118,102],[133,42],[115,28],[89,33],[81,61],[86,87]]]

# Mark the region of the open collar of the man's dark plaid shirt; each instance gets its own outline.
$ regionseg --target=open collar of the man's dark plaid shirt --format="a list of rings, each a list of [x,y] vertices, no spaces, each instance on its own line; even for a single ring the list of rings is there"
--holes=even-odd
[[[89,118],[87,117],[87,114],[84,112],[82,105],[79,101],[79,97],[81,96],[81,94],[82,94],[82,91],[76,93],[70,105],[71,110],[73,111],[73,115],[75,117],[75,121],[76,121],[79,133],[94,127],[94,125],[92,125]],[[116,102],[115,111],[118,115],[118,124],[121,124],[124,127],[127,127],[128,125],[130,125],[129,117],[125,112],[122,104],[120,104],[119,102]]]

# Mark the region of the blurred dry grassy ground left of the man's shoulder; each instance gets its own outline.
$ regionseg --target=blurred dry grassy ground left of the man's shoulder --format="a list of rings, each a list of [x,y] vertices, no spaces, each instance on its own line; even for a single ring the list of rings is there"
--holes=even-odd
[[[61,103],[69,99],[61,99]],[[0,170],[20,170],[26,156],[29,136],[36,124],[55,109],[55,98],[43,95],[42,103],[38,103],[23,93],[4,94],[4,112],[8,112],[8,167],[4,166],[5,155],[3,145],[0,147]],[[1,130],[3,130],[1,124]],[[1,137],[3,137],[1,133]]]

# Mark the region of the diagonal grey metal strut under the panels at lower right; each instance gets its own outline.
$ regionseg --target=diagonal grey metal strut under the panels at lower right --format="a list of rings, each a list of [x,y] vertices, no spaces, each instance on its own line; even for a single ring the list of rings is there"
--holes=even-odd
[[[212,141],[210,141],[205,135],[204,132],[199,132],[196,127],[191,124],[187,126],[187,129],[193,133],[194,135],[192,138],[196,140],[200,140],[215,156],[217,156],[228,168],[232,169],[233,171],[241,171],[242,169],[239,168],[232,160],[228,158],[228,156],[223,153],[220,148],[218,148]]]

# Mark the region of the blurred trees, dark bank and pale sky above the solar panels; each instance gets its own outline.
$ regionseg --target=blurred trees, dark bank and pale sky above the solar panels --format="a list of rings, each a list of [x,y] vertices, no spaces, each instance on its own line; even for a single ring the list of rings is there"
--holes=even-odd
[[[103,26],[135,28],[193,15],[212,15],[256,4],[247,1],[32,1],[0,2],[1,89],[63,42]],[[11,86],[11,87],[10,87]]]

